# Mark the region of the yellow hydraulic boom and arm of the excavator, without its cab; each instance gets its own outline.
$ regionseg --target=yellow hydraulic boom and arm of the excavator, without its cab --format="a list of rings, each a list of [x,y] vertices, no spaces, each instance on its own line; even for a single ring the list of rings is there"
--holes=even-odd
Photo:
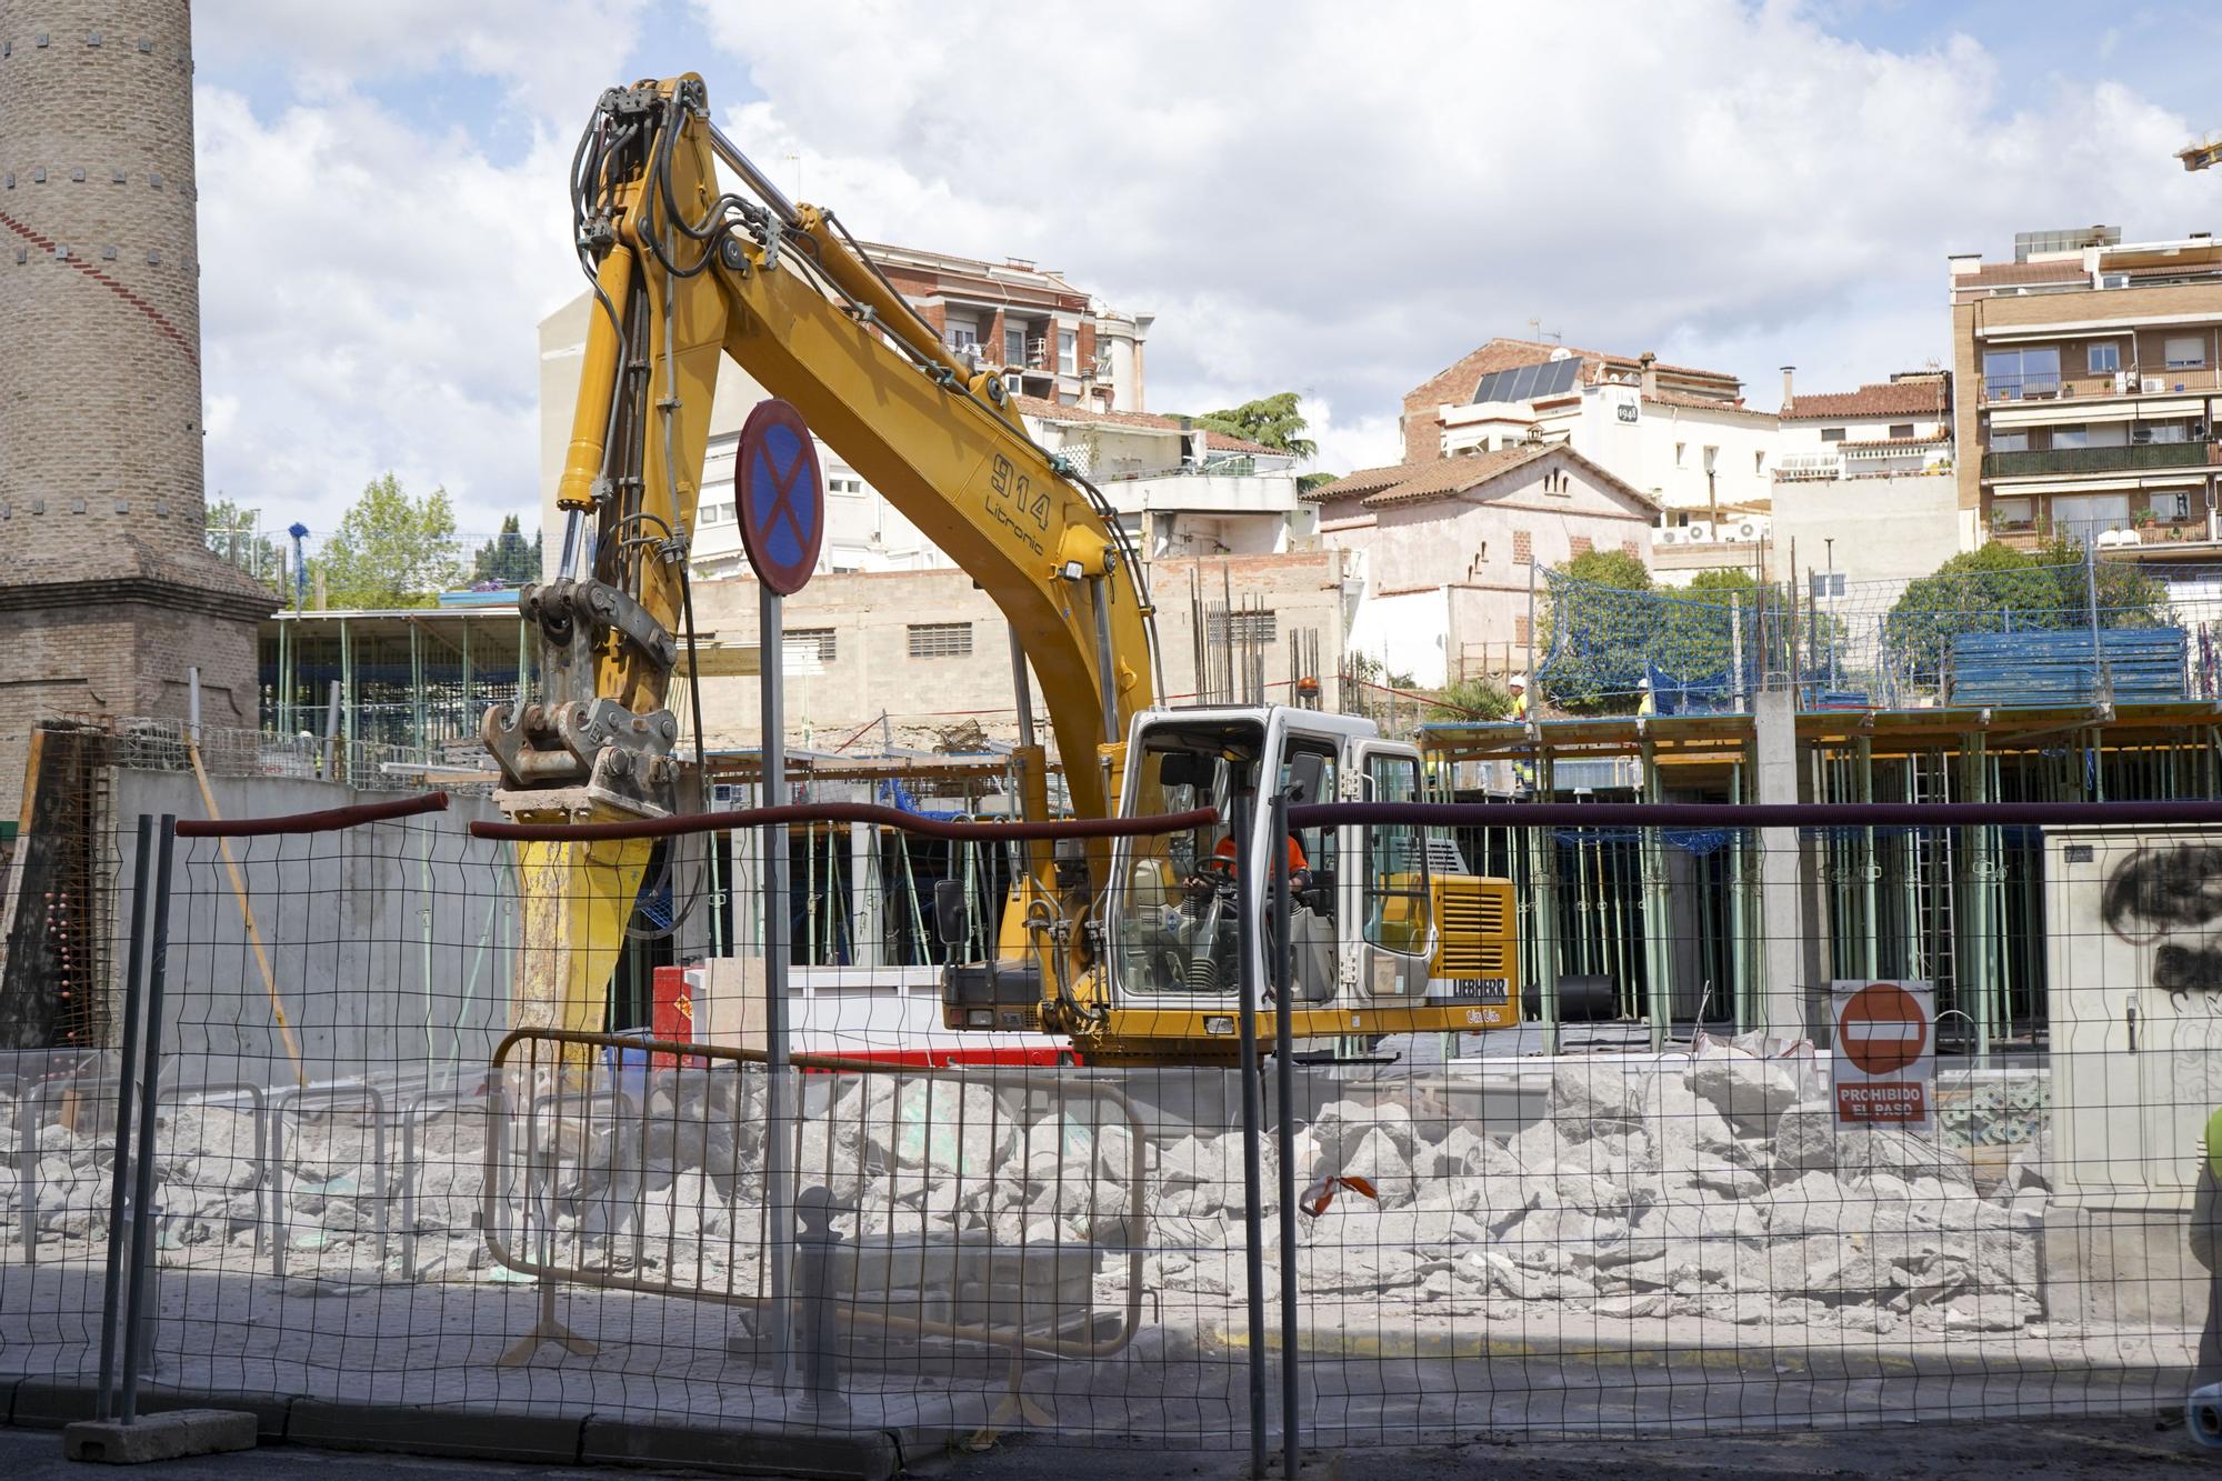
[[[718,165],[742,191],[727,191]],[[520,612],[540,698],[482,725],[500,805],[611,821],[680,805],[664,694],[691,629],[687,543],[720,356],[733,356],[987,589],[1040,680],[1078,816],[1118,805],[1155,692],[1142,574],[1104,500],[1038,447],[1002,380],[953,358],[840,222],[789,202],[711,125],[693,73],[611,89],[573,162],[595,302],[553,580]],[[1042,807],[1042,756],[1022,758]],[[518,1021],[600,1027],[642,841],[531,843]],[[1040,889],[1047,894],[1049,883]]]

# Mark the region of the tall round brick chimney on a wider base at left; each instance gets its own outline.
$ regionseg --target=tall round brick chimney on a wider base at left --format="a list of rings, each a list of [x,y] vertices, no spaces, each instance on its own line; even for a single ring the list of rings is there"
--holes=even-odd
[[[0,0],[0,805],[42,716],[253,727],[273,592],[202,536],[187,0]]]

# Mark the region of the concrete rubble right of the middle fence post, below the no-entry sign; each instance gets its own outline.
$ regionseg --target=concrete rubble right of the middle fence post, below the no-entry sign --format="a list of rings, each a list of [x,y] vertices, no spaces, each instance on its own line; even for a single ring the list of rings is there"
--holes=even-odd
[[[1507,1141],[1409,1101],[1338,1101],[1322,1172],[1360,1174],[1307,1230],[1307,1285],[1349,1299],[1527,1303],[1886,1334],[2040,1319],[2042,1147],[1984,1196],[1933,1136],[1838,1127],[1811,1061],[1709,1045],[1660,1070],[1562,1065]]]

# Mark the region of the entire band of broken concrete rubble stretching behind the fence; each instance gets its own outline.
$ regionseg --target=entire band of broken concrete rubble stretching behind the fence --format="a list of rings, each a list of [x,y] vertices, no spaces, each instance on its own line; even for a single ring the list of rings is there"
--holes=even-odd
[[[1320,1321],[1387,1308],[1520,1319],[1540,1305],[1873,1334],[2038,1321],[2042,1143],[1978,1190],[1966,1156],[1929,1134],[1840,1130],[1811,1063],[1722,1043],[1655,1067],[1562,1063],[1542,1119],[1509,1139],[1402,1083],[1342,1085],[1295,1136],[1298,1185],[1329,1196],[1318,1216],[1300,1214],[1302,1290]],[[1140,1245],[1142,1281],[1169,1321],[1238,1308],[1238,1132],[1189,1134],[1171,1116],[1151,1125],[1135,1216],[1131,1132],[1104,1103],[929,1076],[802,1083],[798,1181],[831,1192],[849,1245],[1078,1250],[1102,1301],[1122,1294],[1124,1254]],[[587,1270],[755,1288],[760,1079],[660,1076],[644,1107],[615,1119],[607,1099],[591,1119],[573,1110],[558,1125],[547,1103],[533,1116],[536,1145],[558,1156],[544,1176],[511,1172],[498,1201],[507,1227],[531,1219],[560,1261]],[[380,1187],[360,1114],[289,1121],[276,1179],[291,1268],[367,1274],[384,1221],[389,1279],[498,1276],[476,1227],[484,1134],[478,1107],[420,1123],[404,1230],[398,1132]],[[160,1147],[164,1250],[247,1268],[271,1203],[253,1116],[167,1107]],[[78,1256],[104,1236],[107,1132],[47,1123],[36,1150],[38,1236]],[[1271,1141],[1264,1176],[1271,1203]],[[11,1223],[16,1203],[9,1165],[0,1207]],[[409,1256],[404,1232],[416,1234]]]

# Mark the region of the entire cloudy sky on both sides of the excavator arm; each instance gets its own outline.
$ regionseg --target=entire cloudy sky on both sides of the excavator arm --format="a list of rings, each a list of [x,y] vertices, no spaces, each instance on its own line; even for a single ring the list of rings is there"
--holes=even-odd
[[[364,480],[467,531],[536,500],[536,325],[609,82],[862,236],[1153,311],[1149,409],[1298,389],[1320,465],[1531,322],[1849,387],[1946,356],[1944,254],[2182,236],[2222,176],[2222,9],[2049,0],[198,0],[209,489],[324,531]]]

